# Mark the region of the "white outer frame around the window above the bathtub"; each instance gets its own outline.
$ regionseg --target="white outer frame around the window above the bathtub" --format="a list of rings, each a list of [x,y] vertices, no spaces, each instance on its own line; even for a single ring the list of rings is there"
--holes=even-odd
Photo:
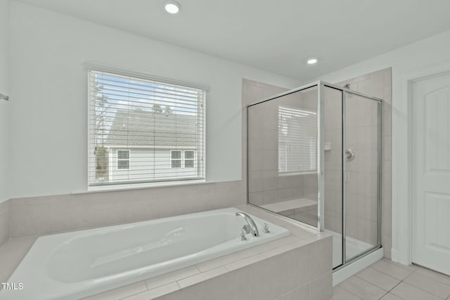
[[[152,74],[143,73],[143,72],[134,72],[123,69],[116,69],[114,67],[107,67],[105,65],[98,65],[96,63],[85,63],[86,70],[86,81],[87,81],[87,117],[88,117],[88,128],[87,128],[87,174],[86,174],[86,189],[89,190],[121,190],[121,189],[133,189],[133,188],[146,188],[146,187],[158,187],[158,186],[167,186],[167,185],[183,185],[189,183],[201,183],[206,181],[206,163],[207,163],[207,154],[206,154],[206,102],[208,93],[210,91],[209,86],[205,86],[203,84],[194,84],[187,81],[179,81],[176,79],[168,79],[165,77],[158,77]],[[92,111],[95,110],[96,107],[96,95],[93,93],[89,84],[92,83],[92,78],[94,74],[98,73],[109,73],[110,75],[117,75],[117,77],[131,77],[135,79],[143,79],[147,81],[157,81],[159,84],[167,84],[167,85],[176,85],[180,86],[182,89],[186,87],[188,89],[198,89],[198,107],[197,107],[197,118],[198,118],[198,127],[196,134],[198,134],[198,141],[195,145],[195,159],[194,160],[194,169],[196,171],[195,177],[192,178],[150,178],[149,180],[138,180],[138,181],[109,181],[96,179],[92,174],[96,170],[96,161],[95,155],[93,155],[91,149],[96,145],[92,140],[93,137],[96,136],[96,120],[95,117],[92,116]],[[122,150],[122,149],[121,149]],[[131,150],[123,149],[123,150]],[[198,152],[201,152],[202,155],[196,155]],[[184,152],[182,152],[184,153]],[[130,151],[131,155],[131,151]],[[130,157],[131,158],[131,157]],[[112,155],[112,151],[110,151],[109,161],[110,164],[114,159]],[[117,162],[117,161],[116,161]],[[181,159],[181,164],[184,164],[184,159]],[[118,165],[115,167],[116,170],[129,170],[131,169],[131,159],[129,163],[129,169],[117,169]],[[172,164],[170,166],[172,169]],[[169,168],[168,168],[169,169]],[[189,168],[191,169],[191,168]],[[109,169],[108,174],[111,176],[111,171],[114,169]],[[110,178],[110,177],[109,177]]]

